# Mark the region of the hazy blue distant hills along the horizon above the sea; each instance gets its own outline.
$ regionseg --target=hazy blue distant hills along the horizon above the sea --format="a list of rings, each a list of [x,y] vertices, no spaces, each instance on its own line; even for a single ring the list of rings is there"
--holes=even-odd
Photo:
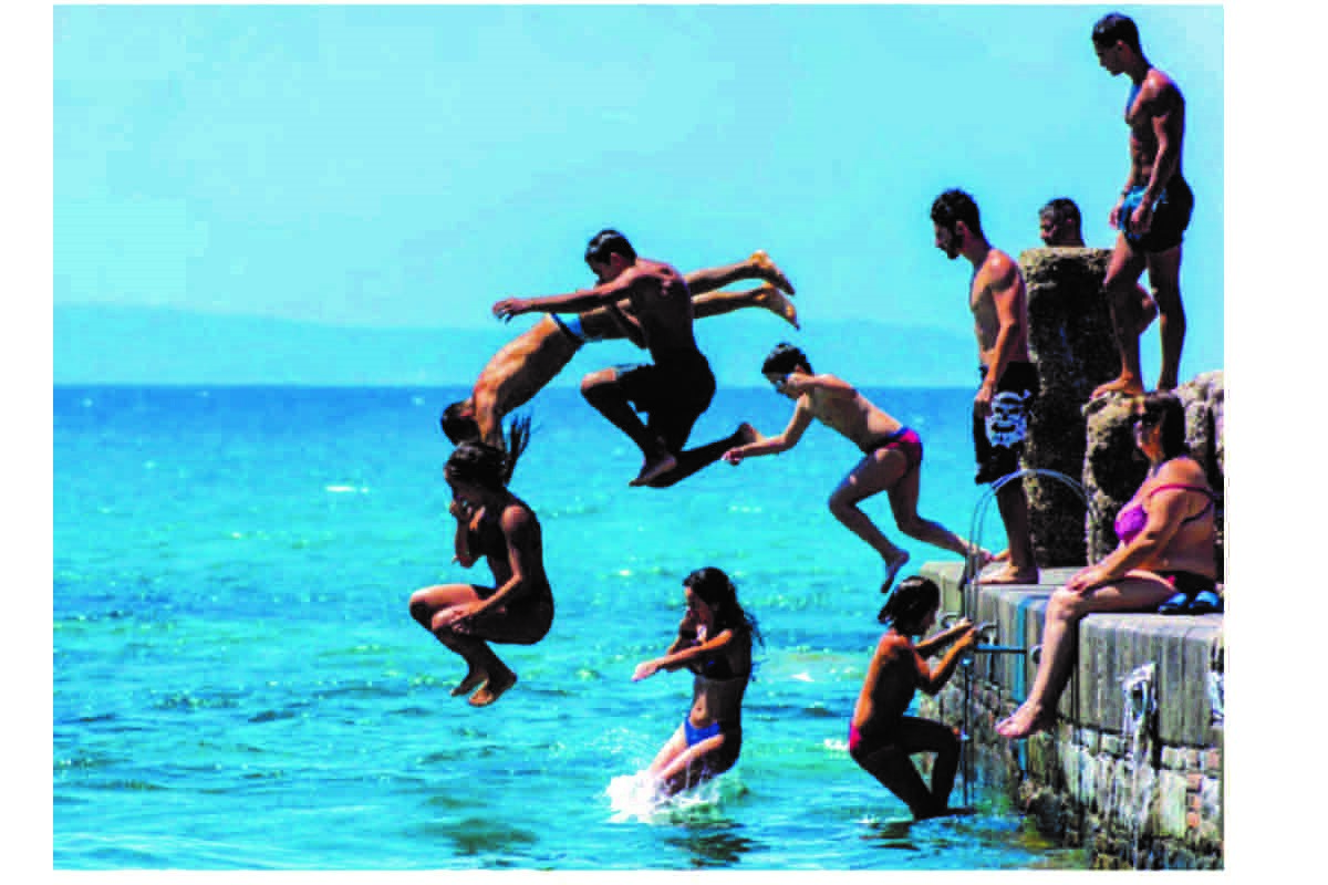
[[[385,329],[166,308],[57,306],[54,382],[465,385],[533,321],[518,317],[510,328],[495,322],[482,330]],[[968,329],[826,321],[797,332],[773,316],[744,313],[699,324],[697,337],[722,386],[761,385],[761,360],[778,341],[802,346],[817,370],[861,386],[967,387],[975,377]],[[588,346],[555,383],[572,386],[595,368],[643,357],[620,341]]]

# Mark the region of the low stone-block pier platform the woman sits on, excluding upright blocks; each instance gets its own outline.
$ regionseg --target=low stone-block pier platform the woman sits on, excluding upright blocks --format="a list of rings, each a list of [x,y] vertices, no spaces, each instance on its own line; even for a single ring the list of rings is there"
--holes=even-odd
[[[983,645],[1035,649],[1046,600],[1076,569],[1037,585],[960,586],[959,564],[927,564],[942,610],[995,622]],[[1038,829],[1089,851],[1098,869],[1220,869],[1222,614],[1090,614],[1057,726],[1024,742],[995,726],[1024,699],[1033,654],[973,655],[920,714],[965,728],[972,778],[1003,789]],[[1126,683],[1133,678],[1133,693]]]

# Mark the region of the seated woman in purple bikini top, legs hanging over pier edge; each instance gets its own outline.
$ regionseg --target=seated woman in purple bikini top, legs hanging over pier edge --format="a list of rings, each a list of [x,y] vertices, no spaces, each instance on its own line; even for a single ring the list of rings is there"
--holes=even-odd
[[[1121,544],[1057,589],[1046,604],[1042,657],[1028,699],[996,731],[1011,739],[1049,728],[1074,666],[1074,630],[1093,612],[1220,612],[1215,494],[1185,444],[1185,406],[1170,393],[1142,398],[1134,444],[1149,474],[1116,519]]]

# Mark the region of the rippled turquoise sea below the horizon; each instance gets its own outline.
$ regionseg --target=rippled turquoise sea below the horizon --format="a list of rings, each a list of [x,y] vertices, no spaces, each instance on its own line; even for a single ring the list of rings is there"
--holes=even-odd
[[[556,620],[498,646],[521,682],[497,705],[450,698],[459,661],[406,600],[487,581],[450,564],[437,415],[463,393],[54,390],[56,869],[1084,866],[983,783],[975,816],[910,824],[849,758],[882,567],[826,510],[858,452],[823,427],[633,490],[631,443],[575,390],[543,391],[513,488],[543,525]],[[867,394],[923,437],[922,513],[967,535],[972,391]],[[789,410],[721,389],[692,439],[774,433]],[[867,510],[898,536],[883,498]],[[701,565],[733,576],[766,645],[738,767],[651,807],[632,775],[691,682],[631,674]]]

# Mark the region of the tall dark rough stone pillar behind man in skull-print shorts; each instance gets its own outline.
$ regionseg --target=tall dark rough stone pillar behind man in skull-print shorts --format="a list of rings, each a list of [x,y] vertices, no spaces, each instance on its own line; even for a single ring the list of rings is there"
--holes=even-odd
[[[1019,256],[1028,287],[1028,345],[1041,382],[1023,466],[1078,479],[1084,470],[1084,403],[1120,373],[1102,292],[1109,249],[1037,248]],[[1041,565],[1082,563],[1084,506],[1064,483],[1028,476],[1033,552]]]

